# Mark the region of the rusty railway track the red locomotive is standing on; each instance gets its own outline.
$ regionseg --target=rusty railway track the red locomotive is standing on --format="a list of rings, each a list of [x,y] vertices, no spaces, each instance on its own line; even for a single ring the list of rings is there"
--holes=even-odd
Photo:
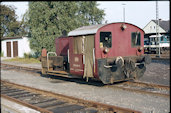
[[[5,69],[15,69],[15,65],[8,65],[8,64],[1,64],[2,68]],[[31,72],[37,72],[40,73],[40,69],[35,69],[34,68],[28,68],[27,67],[21,67],[21,66],[16,66],[16,69],[22,69],[26,71],[31,71]],[[51,75],[55,75],[53,73],[49,73]],[[50,75],[50,76],[51,76]],[[59,76],[60,74],[57,74]],[[69,78],[70,79],[70,78]],[[72,79],[74,81],[83,81],[82,79]],[[100,84],[99,82],[93,82],[93,85]],[[159,85],[159,84],[151,84],[151,83],[144,83],[140,81],[127,81],[127,82],[122,82],[122,83],[115,83],[114,85],[105,85],[104,87],[110,87],[110,88],[120,88],[123,90],[128,90],[128,91],[133,91],[137,93],[142,93],[142,94],[150,94],[150,95],[156,95],[156,96],[163,96],[163,97],[170,97],[170,86],[165,86],[165,85]]]

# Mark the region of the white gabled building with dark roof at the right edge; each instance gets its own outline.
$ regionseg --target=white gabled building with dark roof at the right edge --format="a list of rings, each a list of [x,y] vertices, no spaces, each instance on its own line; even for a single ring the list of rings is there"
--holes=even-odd
[[[156,26],[158,21],[151,20],[144,28],[144,48],[149,53],[160,52],[170,49],[170,20],[159,19],[159,37],[156,36]]]

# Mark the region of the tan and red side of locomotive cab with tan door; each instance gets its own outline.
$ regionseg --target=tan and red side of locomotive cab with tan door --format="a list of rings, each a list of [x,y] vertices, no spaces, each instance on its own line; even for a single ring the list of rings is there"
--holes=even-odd
[[[93,76],[94,35],[70,38],[70,73],[84,78]]]

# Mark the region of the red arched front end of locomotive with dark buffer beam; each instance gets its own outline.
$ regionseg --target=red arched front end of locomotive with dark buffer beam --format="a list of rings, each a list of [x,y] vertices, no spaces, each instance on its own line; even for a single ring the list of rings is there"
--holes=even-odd
[[[113,23],[100,28],[96,36],[100,38],[96,46],[97,73],[104,84],[143,76],[151,58],[144,55],[142,29],[129,23]]]

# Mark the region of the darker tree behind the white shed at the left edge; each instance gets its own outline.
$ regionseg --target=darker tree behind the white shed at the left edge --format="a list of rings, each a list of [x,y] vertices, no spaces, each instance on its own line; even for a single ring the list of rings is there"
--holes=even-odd
[[[14,6],[1,5],[0,4],[0,20],[1,20],[1,37],[10,37],[10,36],[23,36],[27,35],[27,21],[25,16],[22,21],[17,21],[17,15],[15,13]],[[27,13],[26,13],[27,14]],[[25,15],[26,15],[25,14]]]

